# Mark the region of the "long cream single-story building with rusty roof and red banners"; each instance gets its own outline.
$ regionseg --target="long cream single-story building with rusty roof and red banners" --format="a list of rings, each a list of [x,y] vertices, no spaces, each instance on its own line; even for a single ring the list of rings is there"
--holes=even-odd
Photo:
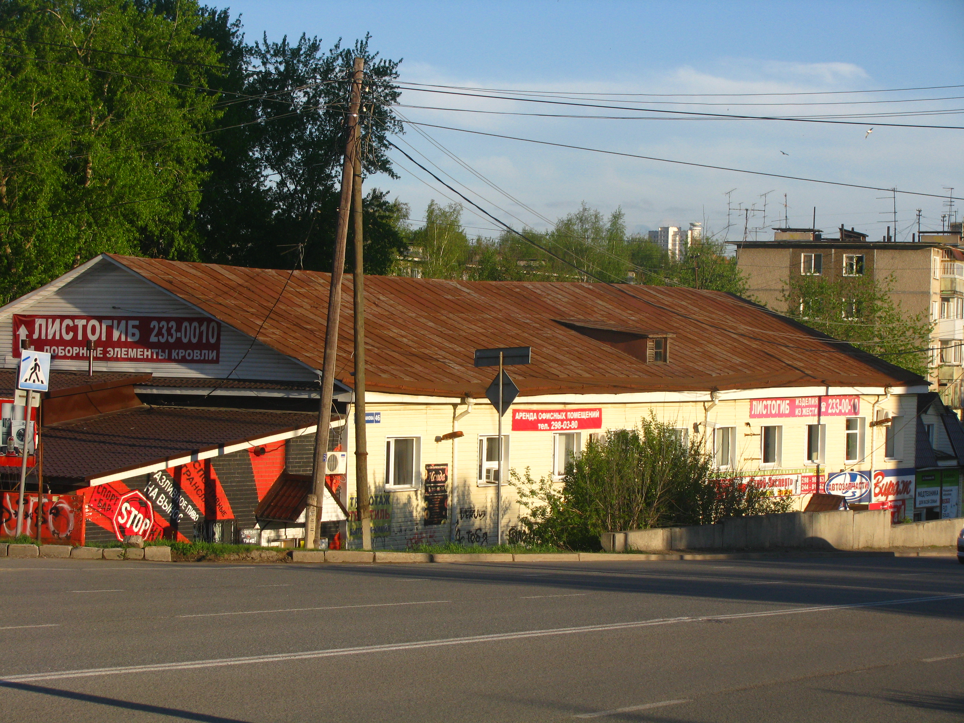
[[[121,496],[138,493],[139,509],[154,514],[158,505],[174,510],[172,495],[183,504],[193,484],[209,493],[192,497],[204,523],[183,522],[193,521],[188,505],[176,525],[170,512],[157,522],[161,533],[261,539],[274,525],[278,539],[297,537],[329,282],[316,272],[104,254],[0,308],[6,368],[23,339],[51,352],[55,375],[74,377],[75,387],[77,378],[115,385],[83,392],[88,401],[80,392],[70,403],[44,397],[44,477],[84,488],[92,519],[95,502],[110,497],[98,518],[108,533]],[[531,363],[507,369],[520,389],[503,419],[507,470],[560,479],[591,435],[655,415],[700,440],[720,469],[774,494],[832,492],[895,519],[959,514],[964,429],[926,380],[734,295],[401,277],[366,278],[365,294],[376,548],[495,541],[497,414],[485,393],[495,370],[472,363],[475,349],[491,347],[532,348]],[[329,477],[337,500],[323,510],[332,509],[340,541],[357,546],[350,279],[342,299],[329,442],[342,458]],[[121,408],[101,409],[97,400],[112,394],[123,396]],[[245,477],[235,503],[226,480],[258,464],[270,470]],[[175,479],[178,467],[197,481]],[[280,485],[272,495],[269,483]],[[99,495],[103,485],[114,494]],[[511,487],[502,500],[512,539]]]

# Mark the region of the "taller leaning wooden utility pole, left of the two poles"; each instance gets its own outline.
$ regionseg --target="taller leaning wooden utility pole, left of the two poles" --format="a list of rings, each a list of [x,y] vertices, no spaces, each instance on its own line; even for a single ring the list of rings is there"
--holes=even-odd
[[[317,498],[318,516],[314,529],[305,530],[305,547],[317,548],[321,539],[321,506],[325,498],[325,455],[332,425],[332,401],[335,396],[335,357],[338,351],[338,316],[341,311],[341,279],[345,273],[345,244],[348,239],[348,214],[352,202],[355,175],[355,151],[358,147],[359,105],[362,101],[364,59],[356,58],[352,71],[352,95],[348,105],[348,140],[345,162],[341,167],[341,200],[338,202],[338,226],[335,231],[335,258],[332,282],[328,289],[328,320],[325,324],[325,360],[321,369],[321,402],[318,406],[318,431],[314,440],[314,465],[311,469],[312,493]],[[306,527],[308,516],[306,516]]]

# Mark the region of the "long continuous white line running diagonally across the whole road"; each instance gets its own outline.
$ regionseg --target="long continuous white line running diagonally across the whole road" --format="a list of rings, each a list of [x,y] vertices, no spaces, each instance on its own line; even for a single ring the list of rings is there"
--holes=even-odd
[[[86,670],[62,670],[51,673],[24,673],[22,675],[5,676],[0,682],[31,683],[35,681],[58,681],[65,678],[91,678],[93,676],[118,675],[120,673],[156,673],[168,670],[193,670],[197,668],[217,668],[227,665],[246,665],[250,663],[284,662],[287,660],[309,660],[319,657],[357,656],[365,653],[390,653],[394,651],[419,650],[423,648],[440,648],[451,645],[467,645],[469,643],[491,643],[501,640],[520,640],[530,637],[547,637],[550,635],[572,635],[579,632],[603,632],[605,630],[625,630],[649,628],[676,623],[699,623],[705,620],[744,618],[764,618],[775,615],[796,615],[806,612],[827,612],[830,610],[849,610],[859,607],[884,607],[887,605],[907,605],[912,603],[930,603],[935,601],[960,600],[964,593],[958,595],[936,595],[926,598],[904,598],[902,600],[884,600],[877,603],[848,603],[843,605],[820,605],[814,607],[790,607],[782,610],[763,610],[760,612],[737,612],[731,615],[710,615],[705,617],[688,618],[656,618],[654,620],[637,620],[629,623],[608,623],[603,625],[585,625],[576,628],[553,628],[536,630],[519,630],[517,632],[495,632],[488,635],[468,635],[465,637],[449,637],[437,640],[415,640],[409,643],[384,643],[382,645],[363,645],[357,648],[332,648],[329,650],[305,651],[303,653],[276,653],[265,656],[220,657],[209,660],[185,660],[183,662],[147,663],[144,665],[120,665],[111,668],[88,668]],[[447,601],[437,601],[447,602]],[[403,603],[404,604],[404,603]],[[364,606],[364,605],[360,605]]]

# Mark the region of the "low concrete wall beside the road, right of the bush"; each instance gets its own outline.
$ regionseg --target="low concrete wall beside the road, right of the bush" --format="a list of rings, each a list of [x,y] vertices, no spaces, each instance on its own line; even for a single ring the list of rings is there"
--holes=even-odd
[[[953,545],[964,519],[891,524],[890,510],[785,512],[717,524],[607,532],[603,549],[886,549]]]

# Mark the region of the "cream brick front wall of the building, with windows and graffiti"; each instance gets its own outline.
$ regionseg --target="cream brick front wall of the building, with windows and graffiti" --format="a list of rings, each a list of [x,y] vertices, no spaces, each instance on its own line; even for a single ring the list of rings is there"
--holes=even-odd
[[[836,391],[836,390],[835,390]],[[800,390],[766,389],[754,398],[778,397],[794,398]],[[874,408],[874,403],[876,407]],[[660,421],[688,430],[692,436],[693,424],[699,423],[700,439],[712,449],[713,428],[717,426],[736,427],[737,452],[744,474],[755,473],[760,476],[808,475],[816,472],[814,465],[806,461],[807,424],[816,423],[811,418],[750,418],[750,397],[704,402],[662,402],[662,403],[599,403],[586,401],[580,403],[537,403],[531,399],[518,403],[514,409],[576,409],[602,407],[603,431],[624,429],[638,425],[639,420],[651,413]],[[864,458],[856,464],[844,462],[845,417],[826,416],[820,422],[826,425],[825,464],[820,466],[821,475],[838,471],[867,471],[871,469],[905,469],[914,467],[915,415],[917,414],[916,394],[892,395],[865,394],[861,396],[860,416],[864,418]],[[709,409],[707,409],[709,408]],[[901,417],[902,427],[898,435],[902,447],[900,459],[884,459],[885,427],[870,427],[875,409],[887,410]],[[495,409],[488,401],[475,401],[469,415],[454,422],[456,414],[465,412],[464,404],[388,404],[368,403],[368,412],[380,412],[381,423],[366,425],[368,442],[369,490],[373,495],[376,508],[381,510],[383,519],[376,519],[373,525],[381,526],[374,540],[376,549],[406,549],[415,544],[445,543],[449,540],[463,544],[495,544],[495,486],[480,485],[478,482],[479,438],[495,435],[497,419]],[[710,430],[703,436],[704,422]],[[749,422],[750,426],[747,426]],[[779,425],[783,427],[782,460],[778,467],[760,469],[759,458],[761,426]],[[509,436],[509,456],[506,469],[514,469],[520,476],[529,468],[532,477],[549,475],[552,469],[553,434],[551,432],[513,432],[511,415],[503,419],[503,434]],[[437,436],[458,429],[464,437],[445,442],[435,442]],[[585,446],[588,435],[593,430],[580,430],[580,443]],[[943,434],[943,433],[942,433]],[[445,464],[449,470],[448,519],[441,525],[425,525],[425,499],[422,485],[414,490],[391,491],[386,481],[386,440],[391,437],[418,437],[420,455],[418,468],[424,475],[425,465]],[[946,435],[939,436],[939,447],[950,450]],[[354,426],[351,426],[348,439],[349,473],[348,491],[352,497],[350,508],[354,508],[355,474]],[[506,478],[508,479],[508,472]],[[825,477],[824,477],[825,478]],[[787,493],[800,493],[799,482],[794,490]],[[511,539],[513,529],[518,525],[519,505],[512,487],[503,485],[503,534]],[[388,513],[388,522],[384,517]],[[361,539],[357,525],[352,525],[352,541],[359,547]]]

